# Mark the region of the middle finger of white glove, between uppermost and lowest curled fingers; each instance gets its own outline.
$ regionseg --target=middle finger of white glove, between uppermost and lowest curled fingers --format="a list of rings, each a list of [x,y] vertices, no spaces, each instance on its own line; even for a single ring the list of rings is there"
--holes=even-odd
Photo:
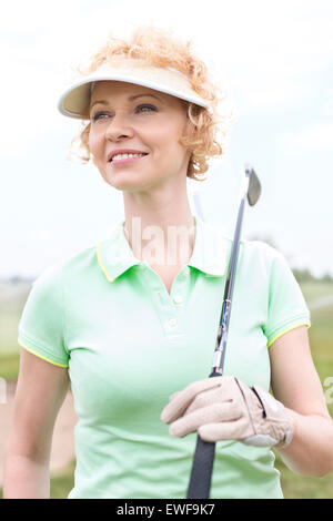
[[[213,403],[175,420],[170,426],[169,432],[171,436],[182,438],[190,432],[195,432],[204,423],[236,420],[241,416],[242,410],[233,402]]]

